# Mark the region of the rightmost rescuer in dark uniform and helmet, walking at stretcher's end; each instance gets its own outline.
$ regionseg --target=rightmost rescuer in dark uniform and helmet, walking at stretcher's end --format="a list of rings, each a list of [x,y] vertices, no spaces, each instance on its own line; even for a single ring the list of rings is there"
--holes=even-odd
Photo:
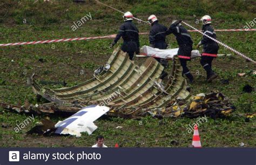
[[[206,37],[210,36],[214,39],[216,39],[216,33],[214,32],[214,29],[211,26],[212,19],[210,16],[204,16],[200,19],[203,22],[203,39],[197,44],[197,48],[200,45],[203,45],[203,53],[200,60],[201,65],[203,66],[204,70],[206,71],[207,82],[211,82],[214,78],[217,78],[218,75],[213,72],[212,70],[212,60],[217,57],[219,45],[214,42],[212,39]]]

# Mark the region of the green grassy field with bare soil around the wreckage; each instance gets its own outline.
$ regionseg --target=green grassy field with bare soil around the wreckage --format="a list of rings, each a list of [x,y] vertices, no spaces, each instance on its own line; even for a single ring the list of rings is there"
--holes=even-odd
[[[211,15],[215,29],[242,29],[256,17],[255,1],[104,1],[122,11],[131,11],[135,17],[146,20],[151,14],[157,15],[159,22],[169,26],[173,19],[185,22],[201,29],[197,19]],[[104,36],[117,33],[123,23],[120,13],[96,4],[94,1],[76,4],[72,1],[0,1],[0,43],[15,43],[33,40]],[[76,31],[72,31],[73,22],[86,14],[88,20]],[[255,23],[256,24],[256,23]],[[149,32],[150,26],[137,23],[140,32]],[[252,28],[256,28],[256,25]],[[189,29],[187,27],[187,29]],[[191,33],[197,44],[200,33]],[[245,53],[256,60],[255,32],[217,32],[221,42]],[[170,46],[177,47],[174,36],[169,36]],[[26,78],[36,73],[38,80],[63,81],[68,86],[76,85],[92,77],[97,66],[105,64],[112,49],[112,39],[88,40],[65,43],[37,44],[26,46],[7,46],[0,48],[0,102],[21,104],[24,100],[36,104],[36,95],[31,87],[26,87]],[[119,45],[122,40],[119,41]],[[149,45],[148,36],[140,36],[140,45]],[[231,53],[220,47],[219,53]],[[38,60],[44,59],[41,63]],[[13,61],[12,61],[13,60]],[[142,64],[145,58],[135,59]],[[230,117],[210,119],[199,127],[203,147],[255,147],[256,120],[245,122],[245,114],[256,112],[256,93],[242,93],[246,84],[255,86],[255,64],[232,54],[231,57],[217,58],[213,68],[219,75],[213,83],[205,83],[205,72],[200,59],[194,59],[188,66],[196,80],[191,85],[191,93],[208,93],[218,90],[230,98],[237,108]],[[84,74],[81,75],[80,71]],[[171,65],[168,70],[171,70]],[[247,73],[238,77],[238,73]],[[199,74],[196,74],[199,73]],[[229,84],[221,83],[229,79]],[[58,88],[61,85],[48,85]],[[24,133],[46,116],[36,116],[35,122],[15,133],[16,123],[28,116],[5,111],[0,108],[0,146],[1,147],[90,147],[98,134],[105,136],[107,146],[118,143],[122,147],[187,147],[192,143],[192,133],[187,133],[187,125],[198,119],[153,119],[150,116],[142,120],[120,118],[101,118],[95,122],[98,129],[92,135],[83,134],[81,138],[73,136],[48,137],[25,135]],[[51,120],[64,118],[51,116]],[[123,128],[116,129],[117,126]]]

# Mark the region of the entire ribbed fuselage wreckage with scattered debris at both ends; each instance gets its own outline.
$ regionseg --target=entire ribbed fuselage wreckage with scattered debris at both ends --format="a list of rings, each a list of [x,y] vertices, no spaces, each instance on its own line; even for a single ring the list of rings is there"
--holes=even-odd
[[[196,117],[216,109],[222,114],[232,111],[230,102],[221,93],[213,92],[204,97],[191,95],[186,89],[186,79],[182,76],[182,67],[176,56],[165,85],[159,79],[163,70],[164,67],[152,57],[138,66],[117,48],[107,63],[95,71],[92,79],[76,86],[50,89],[39,85],[32,75],[29,83],[33,92],[50,103],[30,105],[26,102],[22,107],[2,103],[1,106],[17,112],[54,114],[76,113],[83,107],[98,104],[110,107],[107,115],[122,118],[139,118],[146,114],[160,115],[161,118],[177,117],[184,112],[187,116]],[[197,103],[191,107],[193,99]],[[214,110],[204,99],[209,103],[212,101],[212,105],[218,103],[218,108]]]

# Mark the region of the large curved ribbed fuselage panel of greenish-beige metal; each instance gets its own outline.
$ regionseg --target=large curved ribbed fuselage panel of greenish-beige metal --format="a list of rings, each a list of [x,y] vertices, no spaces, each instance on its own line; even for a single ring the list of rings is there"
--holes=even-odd
[[[186,90],[187,83],[182,76],[178,58],[173,59],[172,72],[161,89],[155,83],[161,82],[159,77],[164,67],[152,57],[137,66],[125,52],[117,48],[108,63],[111,65],[109,71],[68,88],[46,88],[37,84],[32,77],[33,91],[67,109],[70,109],[74,101],[81,105],[100,104],[104,101],[104,105],[111,107],[110,115],[123,117],[138,115],[145,109],[170,106],[170,102],[176,98],[187,101],[192,99]]]

